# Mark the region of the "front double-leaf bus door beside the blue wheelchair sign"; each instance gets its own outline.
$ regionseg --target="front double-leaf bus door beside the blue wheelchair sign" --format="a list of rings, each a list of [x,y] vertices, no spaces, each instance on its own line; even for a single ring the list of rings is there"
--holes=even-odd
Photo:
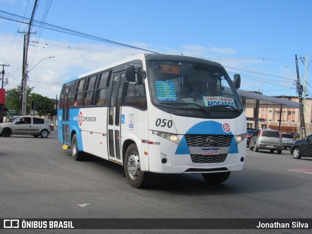
[[[120,153],[120,113],[122,87],[125,81],[125,72],[113,73],[111,98],[108,105],[108,156],[109,160],[122,163]]]

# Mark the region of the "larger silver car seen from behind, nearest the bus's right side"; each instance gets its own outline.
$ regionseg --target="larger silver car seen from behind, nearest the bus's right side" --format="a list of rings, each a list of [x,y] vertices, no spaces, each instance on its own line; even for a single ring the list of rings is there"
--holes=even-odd
[[[275,150],[277,154],[282,154],[283,143],[281,134],[276,130],[259,129],[255,132],[249,143],[249,149],[255,152],[258,150],[270,150],[273,153]]]

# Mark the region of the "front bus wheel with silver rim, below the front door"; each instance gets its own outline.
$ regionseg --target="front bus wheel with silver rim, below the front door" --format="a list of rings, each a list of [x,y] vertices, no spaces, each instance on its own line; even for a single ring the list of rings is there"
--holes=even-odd
[[[140,157],[137,145],[131,144],[125,154],[124,171],[128,183],[134,188],[142,188],[146,184],[146,174],[140,170]]]

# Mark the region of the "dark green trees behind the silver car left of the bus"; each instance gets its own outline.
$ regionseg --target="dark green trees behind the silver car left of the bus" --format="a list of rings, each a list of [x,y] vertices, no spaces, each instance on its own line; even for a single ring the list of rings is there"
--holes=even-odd
[[[7,90],[5,92],[5,104],[6,108],[9,110],[16,110],[20,112],[21,104],[21,90],[20,86],[14,89]],[[55,100],[47,97],[43,97],[39,94],[31,93],[34,87],[27,88],[27,105],[26,105],[26,115],[30,114],[32,101],[38,102],[37,115],[39,116],[54,116],[56,114],[55,110]]]

